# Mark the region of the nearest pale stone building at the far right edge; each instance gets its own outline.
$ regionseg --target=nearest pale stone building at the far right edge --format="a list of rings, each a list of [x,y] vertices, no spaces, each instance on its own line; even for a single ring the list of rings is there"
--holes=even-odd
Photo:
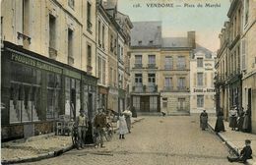
[[[256,134],[256,2],[244,0],[241,16],[242,106],[251,110],[252,133]]]

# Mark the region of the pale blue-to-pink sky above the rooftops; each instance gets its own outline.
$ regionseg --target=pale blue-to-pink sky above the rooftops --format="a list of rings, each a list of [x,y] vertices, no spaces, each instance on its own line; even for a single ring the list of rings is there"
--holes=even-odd
[[[206,7],[206,4],[218,6]],[[156,5],[163,7],[156,8]],[[161,21],[164,37],[184,37],[187,31],[195,30],[196,42],[216,52],[220,47],[219,34],[228,20],[229,6],[229,0],[118,0],[117,8],[132,22]]]

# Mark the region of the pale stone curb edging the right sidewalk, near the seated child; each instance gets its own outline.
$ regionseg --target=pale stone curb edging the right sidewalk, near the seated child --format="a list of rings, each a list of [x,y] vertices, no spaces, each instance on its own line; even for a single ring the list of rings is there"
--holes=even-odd
[[[212,130],[212,132],[215,133],[214,128],[208,123],[208,127]],[[231,149],[236,155],[239,155],[239,149],[230,141],[227,140],[227,138],[225,138],[222,134],[220,133],[215,133],[219,138],[221,138],[225,145]],[[248,159],[246,160],[246,164],[247,165],[255,165],[256,163],[254,163],[254,161],[252,159]]]

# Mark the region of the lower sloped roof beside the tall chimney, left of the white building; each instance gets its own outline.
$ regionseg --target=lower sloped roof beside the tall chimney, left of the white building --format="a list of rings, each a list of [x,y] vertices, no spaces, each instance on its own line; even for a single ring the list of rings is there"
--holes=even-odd
[[[163,37],[161,47],[189,47],[187,37]]]

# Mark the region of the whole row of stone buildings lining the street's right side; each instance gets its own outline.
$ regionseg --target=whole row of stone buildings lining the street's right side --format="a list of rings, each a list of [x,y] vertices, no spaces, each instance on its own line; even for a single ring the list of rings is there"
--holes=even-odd
[[[238,106],[239,111],[251,110],[252,132],[256,133],[255,93],[255,19],[256,2],[232,0],[220,34],[221,48],[218,51],[216,69],[217,109],[228,111]]]

